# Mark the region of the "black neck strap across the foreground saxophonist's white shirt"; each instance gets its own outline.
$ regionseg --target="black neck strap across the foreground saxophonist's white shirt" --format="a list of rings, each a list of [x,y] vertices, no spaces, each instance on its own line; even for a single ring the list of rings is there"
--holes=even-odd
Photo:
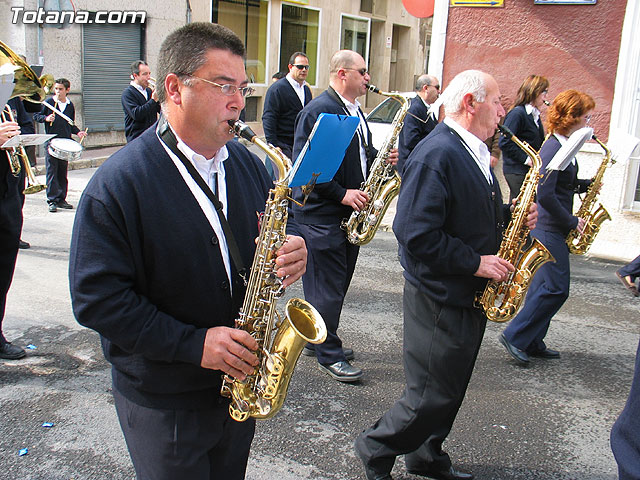
[[[246,277],[246,268],[244,267],[244,263],[242,262],[242,256],[240,255],[240,249],[238,248],[238,243],[236,242],[235,237],[233,236],[233,232],[231,231],[231,225],[227,221],[227,218],[224,216],[224,212],[222,211],[222,203],[216,197],[216,194],[211,191],[209,185],[206,184],[202,176],[198,173],[196,168],[193,166],[187,157],[185,157],[184,153],[180,151],[178,148],[178,140],[176,139],[173,130],[169,127],[169,122],[163,117],[158,122],[157,133],[160,139],[165,143],[169,150],[178,157],[178,159],[185,166],[191,178],[195,180],[200,189],[204,192],[207,198],[213,204],[216,213],[218,214],[218,219],[220,220],[220,225],[222,226],[222,231],[224,232],[224,236],[227,240],[227,246],[229,247],[229,254],[231,255],[231,261],[233,262],[233,266],[238,272],[240,278],[244,282],[244,285],[247,285],[247,277]]]

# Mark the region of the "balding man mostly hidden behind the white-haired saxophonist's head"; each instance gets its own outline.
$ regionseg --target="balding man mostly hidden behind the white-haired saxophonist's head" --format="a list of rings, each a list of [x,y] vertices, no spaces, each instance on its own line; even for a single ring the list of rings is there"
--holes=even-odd
[[[416,81],[416,96],[404,117],[404,126],[398,139],[398,172],[416,145],[429,135],[438,124],[438,112],[430,110],[440,96],[440,82],[433,75],[420,75]]]

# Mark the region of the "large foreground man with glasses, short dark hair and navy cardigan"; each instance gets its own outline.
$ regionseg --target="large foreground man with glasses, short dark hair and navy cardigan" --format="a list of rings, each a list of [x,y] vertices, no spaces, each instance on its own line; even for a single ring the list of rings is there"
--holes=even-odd
[[[252,91],[243,57],[220,25],[171,33],[158,58],[162,118],[95,173],[76,213],[73,310],[101,335],[138,479],[245,475],[255,422],[230,418],[221,376],[258,364],[257,343],[233,326],[272,182],[231,141]],[[304,241],[289,235],[277,255],[288,286],[304,273]]]

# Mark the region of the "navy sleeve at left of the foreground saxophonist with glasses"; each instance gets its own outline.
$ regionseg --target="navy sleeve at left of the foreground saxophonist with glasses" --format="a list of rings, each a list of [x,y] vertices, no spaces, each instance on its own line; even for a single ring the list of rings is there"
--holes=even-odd
[[[69,283],[78,322],[129,353],[200,365],[205,328],[180,322],[135,291],[136,265],[122,212],[83,195],[73,227]]]

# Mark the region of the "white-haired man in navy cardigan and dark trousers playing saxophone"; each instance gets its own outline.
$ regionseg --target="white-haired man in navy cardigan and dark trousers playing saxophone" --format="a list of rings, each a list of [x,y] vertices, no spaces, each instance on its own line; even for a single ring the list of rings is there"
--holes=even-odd
[[[396,456],[409,473],[472,479],[442,450],[484,335],[475,306],[487,279],[513,266],[497,257],[509,209],[483,141],[504,110],[490,75],[458,74],[444,96],[446,118],[405,164],[393,230],[404,268],[403,396],[355,442],[369,480],[390,480]],[[426,194],[425,194],[426,192]],[[528,225],[535,225],[532,207]]]

